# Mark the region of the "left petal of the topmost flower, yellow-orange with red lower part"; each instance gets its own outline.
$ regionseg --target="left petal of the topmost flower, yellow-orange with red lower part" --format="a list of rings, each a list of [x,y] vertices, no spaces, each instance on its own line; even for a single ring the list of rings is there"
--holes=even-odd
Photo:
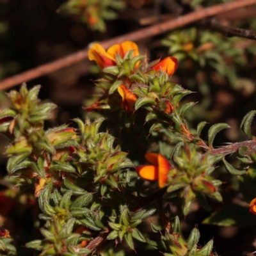
[[[116,64],[115,59],[100,44],[92,45],[92,48],[88,51],[88,58],[89,60],[96,61],[100,68],[114,66]]]

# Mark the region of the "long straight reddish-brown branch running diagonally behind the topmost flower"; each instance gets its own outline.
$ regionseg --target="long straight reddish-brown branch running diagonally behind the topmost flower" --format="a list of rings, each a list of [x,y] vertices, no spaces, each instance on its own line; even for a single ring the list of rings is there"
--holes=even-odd
[[[115,38],[106,40],[104,42],[101,42],[100,44],[102,44],[104,48],[108,48],[113,44],[119,44],[121,42],[124,42],[125,40],[138,41],[143,38],[159,35],[161,33],[170,31],[175,28],[180,28],[182,26],[188,25],[192,22],[195,22],[201,19],[205,19],[207,17],[212,17],[213,15],[229,12],[231,10],[235,10],[237,8],[241,8],[244,6],[250,6],[255,3],[256,3],[256,0],[246,0],[246,1],[237,0],[230,3],[216,4],[209,8],[204,8],[202,10],[197,10],[187,15],[177,17],[177,19],[161,22],[157,25],[150,26],[149,28],[143,28],[138,31],[127,33],[122,36],[116,36]],[[84,49],[74,54],[70,54],[65,58],[52,61],[51,63],[47,63],[37,68],[33,68],[31,70],[28,70],[16,76],[6,78],[0,82],[0,91],[6,90],[8,88],[12,88],[12,86],[24,83],[25,81],[29,81],[31,79],[35,79],[36,77],[45,76],[61,68],[65,68],[75,63],[78,63],[79,61],[82,61],[87,57],[88,57],[87,49]]]

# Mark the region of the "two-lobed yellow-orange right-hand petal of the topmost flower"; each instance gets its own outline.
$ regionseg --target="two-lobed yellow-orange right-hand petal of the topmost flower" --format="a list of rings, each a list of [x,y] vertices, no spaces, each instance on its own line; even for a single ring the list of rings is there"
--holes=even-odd
[[[127,54],[127,52],[131,50],[133,50],[134,57],[140,54],[138,45],[136,45],[134,42],[131,42],[131,41],[125,41],[125,42],[122,42],[122,44],[114,44],[111,47],[109,47],[107,52],[113,58],[115,58],[116,54],[120,54],[120,56],[124,58],[125,54]]]

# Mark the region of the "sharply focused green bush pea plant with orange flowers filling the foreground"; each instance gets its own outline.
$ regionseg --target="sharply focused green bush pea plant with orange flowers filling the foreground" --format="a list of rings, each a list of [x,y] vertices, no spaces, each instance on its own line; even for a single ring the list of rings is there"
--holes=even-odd
[[[195,201],[207,210],[222,202],[223,182],[214,177],[221,163],[230,175],[243,175],[244,186],[252,183],[255,138],[250,124],[256,112],[241,124],[250,140],[214,148],[214,137],[229,125],[213,124],[208,141],[200,138],[206,122],[197,131],[189,129],[186,114],[195,102],[180,102],[191,91],[172,80],[177,58],[148,61],[131,41],[108,51],[93,44],[88,57],[100,68],[95,84],[102,94],[84,109],[105,118],[75,118],[45,129],[57,106],[38,99],[40,86],[28,90],[26,84],[7,94],[10,108],[0,112],[0,131],[10,140],[6,168],[20,188],[15,196],[33,188],[30,200],[38,202],[44,223],[42,238],[27,241],[26,247],[39,255],[125,255],[127,248],[136,252],[144,244],[166,256],[217,255],[213,239],[198,244],[198,228],[182,236],[180,220]],[[104,122],[108,129],[102,131]],[[239,169],[225,157],[234,152],[239,153]],[[177,214],[170,204],[177,205]],[[15,255],[4,223],[0,236],[1,253]]]

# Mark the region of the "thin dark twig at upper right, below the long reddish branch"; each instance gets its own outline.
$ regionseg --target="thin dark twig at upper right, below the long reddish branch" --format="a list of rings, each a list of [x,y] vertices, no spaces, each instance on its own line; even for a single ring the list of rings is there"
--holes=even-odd
[[[220,33],[223,33],[226,36],[239,36],[239,37],[256,40],[256,31],[253,31],[250,29],[224,26],[217,19],[205,19],[205,20],[202,20],[201,24],[207,28],[211,28]]]

